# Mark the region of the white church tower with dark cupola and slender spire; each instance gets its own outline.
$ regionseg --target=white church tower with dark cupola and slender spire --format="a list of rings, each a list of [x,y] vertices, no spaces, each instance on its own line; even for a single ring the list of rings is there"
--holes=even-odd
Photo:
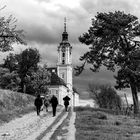
[[[65,81],[69,91],[72,92],[72,46],[68,41],[66,18],[64,19],[64,32],[62,33],[62,41],[58,46],[57,68],[58,76]]]

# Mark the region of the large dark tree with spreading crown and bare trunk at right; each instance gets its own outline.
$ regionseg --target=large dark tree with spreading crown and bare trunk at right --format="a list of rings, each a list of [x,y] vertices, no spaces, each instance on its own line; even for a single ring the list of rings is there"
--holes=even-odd
[[[91,65],[93,72],[98,72],[101,66],[113,72],[118,70],[118,88],[131,88],[135,114],[139,112],[137,82],[140,75],[136,62],[139,62],[140,56],[134,55],[140,50],[140,42],[136,40],[139,35],[140,24],[136,16],[120,11],[97,13],[88,32],[79,37],[81,43],[90,47],[80,57],[83,64],[75,68],[76,75],[86,64]],[[120,75],[122,72],[124,75]]]

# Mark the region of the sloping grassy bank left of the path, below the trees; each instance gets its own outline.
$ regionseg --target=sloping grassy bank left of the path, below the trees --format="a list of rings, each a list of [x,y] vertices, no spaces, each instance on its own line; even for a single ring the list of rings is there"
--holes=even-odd
[[[0,124],[33,110],[33,96],[0,89]]]

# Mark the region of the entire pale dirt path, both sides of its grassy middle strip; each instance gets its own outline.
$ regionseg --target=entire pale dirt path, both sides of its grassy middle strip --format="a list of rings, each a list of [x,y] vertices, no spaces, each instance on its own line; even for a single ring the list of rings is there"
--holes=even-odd
[[[36,112],[26,114],[0,126],[0,140],[49,140],[68,114],[62,107],[58,108],[56,117],[52,117],[51,108],[48,113],[42,111],[40,116],[37,116]],[[75,140],[75,113],[72,114],[66,140]]]

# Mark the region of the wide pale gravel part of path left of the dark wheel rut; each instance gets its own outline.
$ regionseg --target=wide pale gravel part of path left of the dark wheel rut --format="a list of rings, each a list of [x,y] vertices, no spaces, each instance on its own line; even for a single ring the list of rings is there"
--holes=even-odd
[[[49,127],[62,112],[59,108],[56,117],[52,117],[51,108],[48,113],[41,112],[40,116],[32,112],[0,126],[0,140],[35,140],[42,131]]]

